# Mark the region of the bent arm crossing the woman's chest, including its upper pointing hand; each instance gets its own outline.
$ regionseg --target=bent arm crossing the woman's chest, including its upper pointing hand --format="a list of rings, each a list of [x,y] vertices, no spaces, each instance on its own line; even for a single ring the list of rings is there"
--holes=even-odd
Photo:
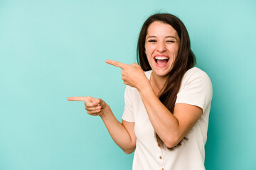
[[[112,60],[106,62],[122,69],[124,84],[138,89],[151,124],[166,147],[176,146],[202,115],[202,108],[185,103],[177,103],[172,114],[156,96],[138,64],[129,65]]]

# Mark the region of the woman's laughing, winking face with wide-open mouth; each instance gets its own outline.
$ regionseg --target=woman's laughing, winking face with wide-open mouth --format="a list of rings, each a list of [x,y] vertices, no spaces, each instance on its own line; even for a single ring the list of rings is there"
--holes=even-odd
[[[154,74],[165,77],[171,72],[178,55],[179,42],[178,33],[171,25],[161,21],[149,25],[145,53]]]

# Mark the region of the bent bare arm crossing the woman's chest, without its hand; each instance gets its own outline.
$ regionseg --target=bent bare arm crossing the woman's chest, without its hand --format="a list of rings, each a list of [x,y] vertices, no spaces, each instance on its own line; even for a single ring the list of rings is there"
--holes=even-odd
[[[154,94],[151,86],[138,90],[151,124],[166,147],[171,148],[181,142],[203,113],[198,106],[176,103],[172,114]]]

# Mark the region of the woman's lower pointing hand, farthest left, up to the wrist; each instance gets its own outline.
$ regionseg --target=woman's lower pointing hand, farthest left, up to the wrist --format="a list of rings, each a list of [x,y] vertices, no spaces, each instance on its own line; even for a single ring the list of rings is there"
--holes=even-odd
[[[89,115],[100,115],[105,117],[110,107],[101,98],[87,97],[69,97],[68,101],[85,101],[85,110]]]

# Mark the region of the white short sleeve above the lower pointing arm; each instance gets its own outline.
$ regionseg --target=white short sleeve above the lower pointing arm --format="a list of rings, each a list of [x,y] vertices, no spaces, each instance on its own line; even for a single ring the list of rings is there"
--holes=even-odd
[[[124,91],[124,113],[122,115],[122,119],[127,122],[135,122],[133,108],[132,108],[131,92],[132,92],[131,87],[126,86]]]

